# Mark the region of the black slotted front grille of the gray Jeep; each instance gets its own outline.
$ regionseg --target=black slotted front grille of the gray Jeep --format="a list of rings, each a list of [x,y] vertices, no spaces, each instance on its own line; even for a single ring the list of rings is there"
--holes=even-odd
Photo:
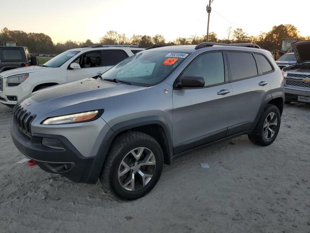
[[[31,112],[27,112],[20,104],[16,104],[14,107],[14,118],[18,129],[31,137],[31,122],[34,120],[35,115],[31,115]]]

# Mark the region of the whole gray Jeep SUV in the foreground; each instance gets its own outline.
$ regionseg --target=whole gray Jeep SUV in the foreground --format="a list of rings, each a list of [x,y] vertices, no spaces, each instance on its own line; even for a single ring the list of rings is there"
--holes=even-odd
[[[242,134],[268,146],[279,132],[284,80],[266,50],[146,49],[101,78],[16,105],[12,138],[32,164],[77,183],[99,178],[107,192],[137,199],[178,155]]]

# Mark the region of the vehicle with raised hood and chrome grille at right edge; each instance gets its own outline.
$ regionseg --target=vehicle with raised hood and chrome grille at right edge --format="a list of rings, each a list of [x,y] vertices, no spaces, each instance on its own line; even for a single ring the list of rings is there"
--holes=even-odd
[[[310,40],[292,44],[296,65],[283,68],[285,72],[285,102],[310,103]]]

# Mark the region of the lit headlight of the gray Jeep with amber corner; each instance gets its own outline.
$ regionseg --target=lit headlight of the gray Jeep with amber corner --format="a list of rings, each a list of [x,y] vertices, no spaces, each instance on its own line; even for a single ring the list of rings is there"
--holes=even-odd
[[[76,113],[65,116],[55,116],[47,118],[42,122],[44,125],[60,125],[60,124],[70,124],[70,123],[80,123],[85,121],[91,121],[98,118],[99,110]]]

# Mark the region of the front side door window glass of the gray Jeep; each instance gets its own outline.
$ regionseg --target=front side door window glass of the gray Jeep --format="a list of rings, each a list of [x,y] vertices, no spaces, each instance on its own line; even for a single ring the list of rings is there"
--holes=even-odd
[[[224,83],[224,61],[222,52],[204,53],[185,69],[183,75],[197,75],[204,78],[205,86]]]

